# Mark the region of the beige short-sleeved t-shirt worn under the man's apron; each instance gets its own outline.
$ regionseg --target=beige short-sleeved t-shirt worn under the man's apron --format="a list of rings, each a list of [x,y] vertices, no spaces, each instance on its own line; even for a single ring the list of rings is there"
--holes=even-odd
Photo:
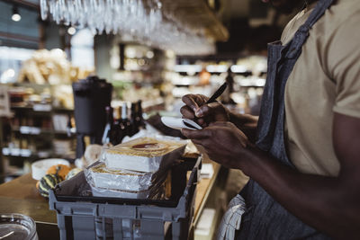
[[[293,39],[315,4],[288,23],[283,44]],[[338,175],[334,111],[360,118],[359,1],[338,0],[315,23],[286,84],[285,142],[302,173]]]

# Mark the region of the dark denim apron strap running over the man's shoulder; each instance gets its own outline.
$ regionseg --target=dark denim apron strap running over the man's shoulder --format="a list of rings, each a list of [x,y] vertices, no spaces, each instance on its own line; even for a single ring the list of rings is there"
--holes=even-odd
[[[312,26],[318,22],[320,17],[326,12],[326,10],[333,2],[334,0],[320,0],[318,4],[316,4],[309,18],[305,23],[302,24],[299,30],[295,32],[290,50],[288,54],[286,54],[285,58],[293,59],[299,57],[299,55],[302,53],[302,45],[308,39],[309,31],[311,30]]]

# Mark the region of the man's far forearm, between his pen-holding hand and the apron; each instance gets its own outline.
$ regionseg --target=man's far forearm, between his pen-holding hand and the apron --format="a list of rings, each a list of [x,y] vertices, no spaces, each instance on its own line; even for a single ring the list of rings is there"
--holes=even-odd
[[[251,142],[255,142],[257,138],[257,116],[229,112],[229,118],[230,122],[243,131]]]

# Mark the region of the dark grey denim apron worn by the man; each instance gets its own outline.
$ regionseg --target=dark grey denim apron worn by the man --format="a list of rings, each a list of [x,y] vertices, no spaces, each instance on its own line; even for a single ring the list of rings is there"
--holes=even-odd
[[[311,27],[332,2],[320,0],[291,42],[285,46],[280,41],[268,45],[268,71],[257,126],[257,147],[292,168],[295,166],[288,159],[284,145],[285,84],[302,54],[302,45]],[[246,200],[247,211],[242,217],[237,239],[329,239],[294,217],[253,180],[247,183],[240,195]]]

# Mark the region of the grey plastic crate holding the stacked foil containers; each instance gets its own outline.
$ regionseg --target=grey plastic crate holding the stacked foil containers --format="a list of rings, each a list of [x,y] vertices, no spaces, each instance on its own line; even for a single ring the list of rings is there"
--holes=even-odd
[[[89,185],[84,173],[78,173],[49,192],[60,239],[187,239],[200,165],[199,157],[172,167],[170,200],[84,197]],[[188,171],[192,173],[186,182]]]

